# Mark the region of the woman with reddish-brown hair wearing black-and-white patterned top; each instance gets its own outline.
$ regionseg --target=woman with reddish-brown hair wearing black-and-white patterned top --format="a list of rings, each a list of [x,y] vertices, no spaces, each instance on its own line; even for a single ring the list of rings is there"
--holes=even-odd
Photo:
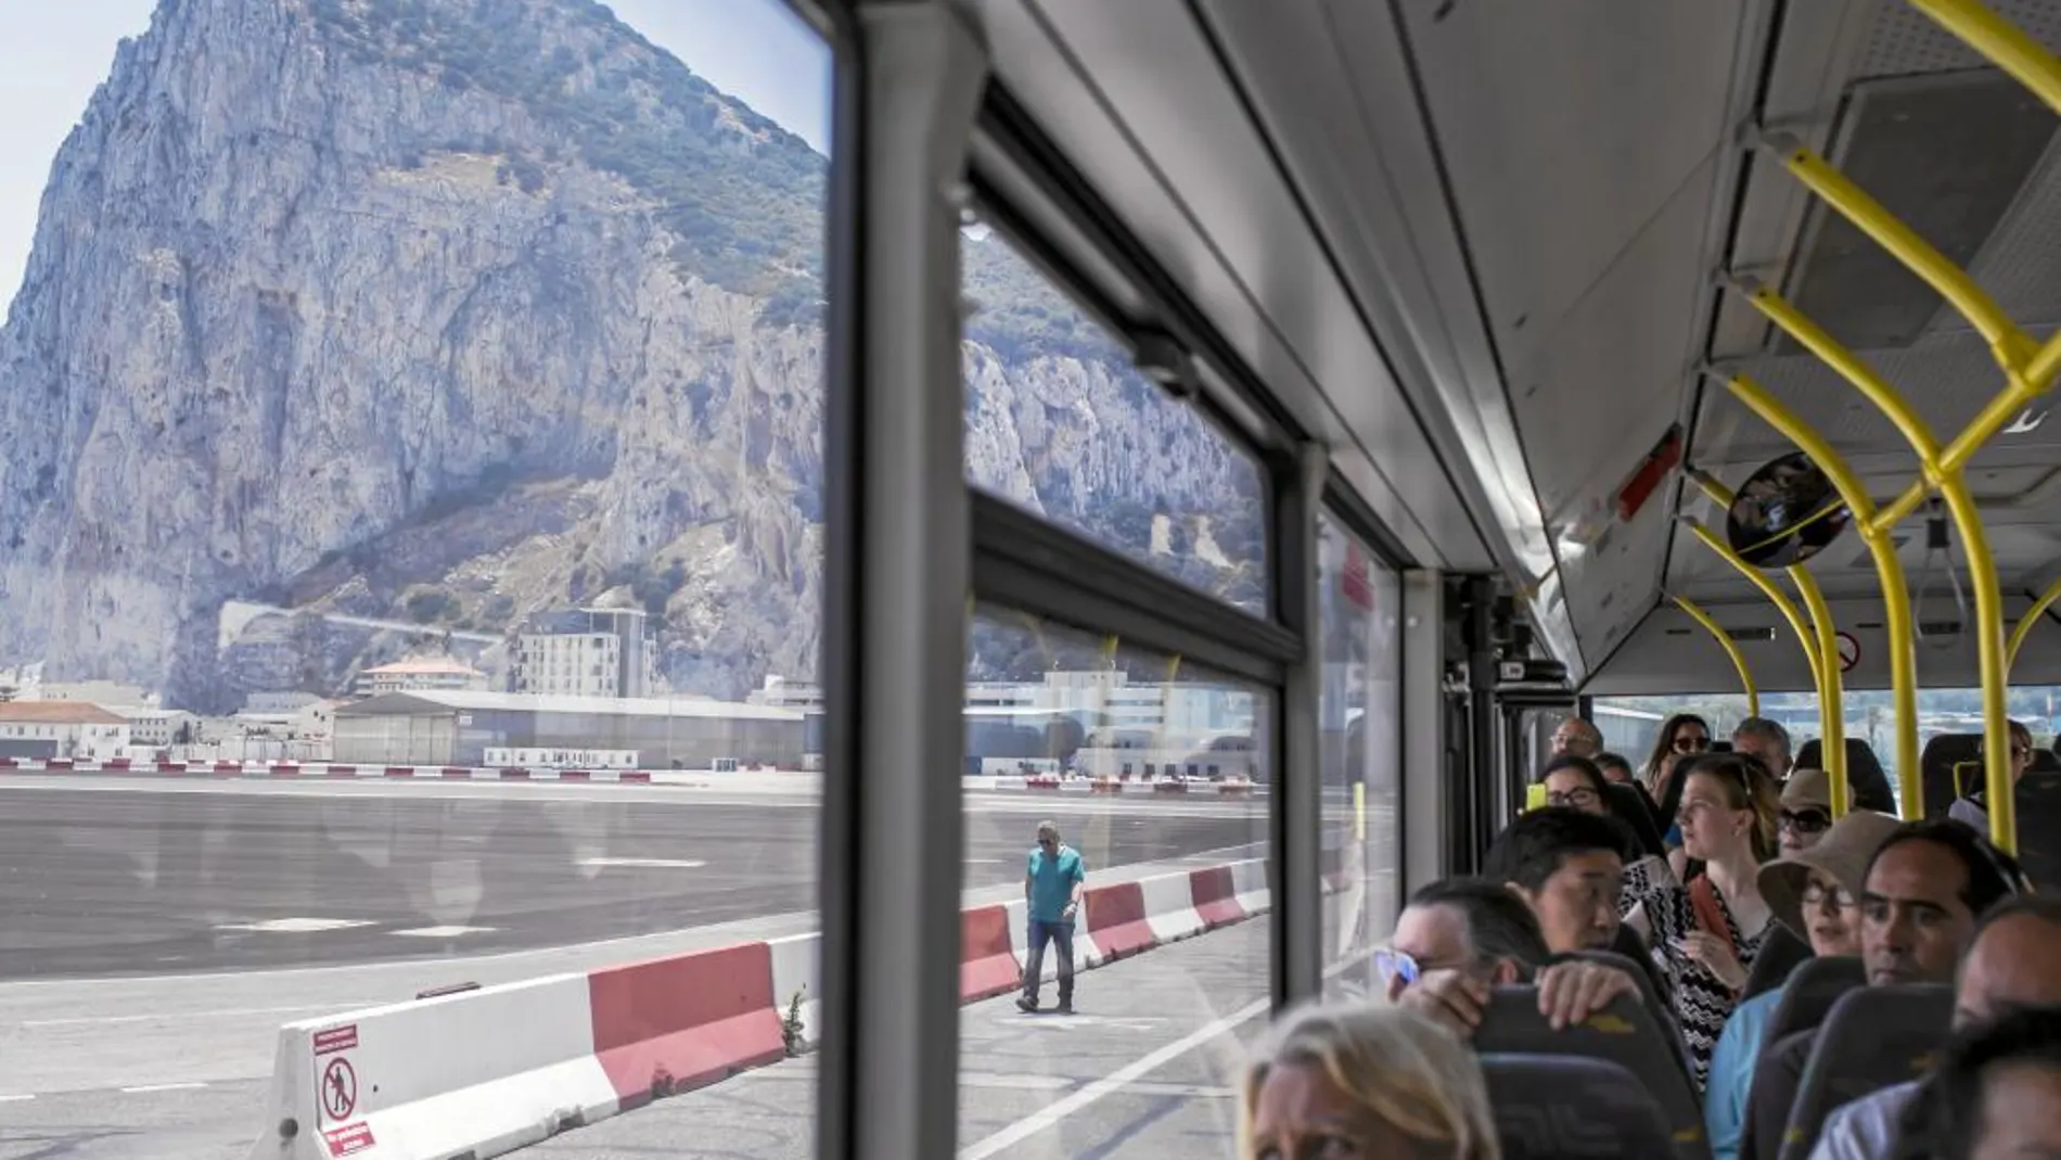
[[[1624,923],[1667,966],[1674,1014],[1696,1088],[1772,927],[1760,863],[1775,855],[1775,783],[1754,758],[1709,754],[1682,781],[1682,851],[1702,863],[1688,884],[1626,876]]]

